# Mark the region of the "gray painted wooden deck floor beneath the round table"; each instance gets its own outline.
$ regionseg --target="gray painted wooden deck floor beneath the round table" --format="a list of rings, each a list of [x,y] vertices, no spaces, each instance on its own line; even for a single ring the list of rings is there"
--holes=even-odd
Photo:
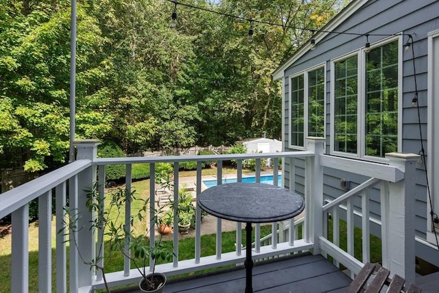
[[[244,292],[246,272],[237,267],[182,279],[170,279],[165,292]],[[253,292],[345,292],[351,279],[322,255],[304,253],[259,262],[253,268]],[[112,292],[141,292],[127,288]]]

